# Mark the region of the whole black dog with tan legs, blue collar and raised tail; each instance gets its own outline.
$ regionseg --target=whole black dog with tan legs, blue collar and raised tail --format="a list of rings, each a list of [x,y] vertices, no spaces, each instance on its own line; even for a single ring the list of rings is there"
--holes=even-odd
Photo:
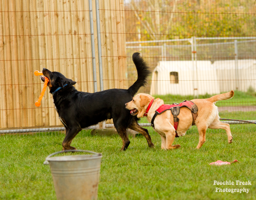
[[[143,134],[148,146],[154,147],[148,130],[140,127],[137,123],[139,119],[125,108],[125,103],[131,101],[139,88],[146,85],[146,79],[150,75],[148,66],[139,53],[133,54],[133,62],[137,69],[138,79],[129,89],[109,89],[95,93],[77,91],[73,86],[76,84],[75,81],[67,79],[59,72],[43,69],[44,76],[49,79],[47,86],[53,95],[59,119],[66,128],[66,136],[62,142],[63,150],[76,149],[70,144],[82,128],[112,118],[123,140],[121,150],[126,150],[130,144],[126,133],[127,128]],[[44,76],[41,76],[43,82]]]

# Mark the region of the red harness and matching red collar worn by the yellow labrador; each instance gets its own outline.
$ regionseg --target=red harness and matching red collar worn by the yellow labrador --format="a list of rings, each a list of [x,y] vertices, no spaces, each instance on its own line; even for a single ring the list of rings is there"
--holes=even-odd
[[[150,102],[150,103],[151,103],[151,102]],[[152,105],[152,103],[151,103],[151,105]],[[150,106],[151,106],[151,105],[150,105]],[[150,106],[148,105],[149,108],[150,108]],[[153,116],[153,118],[152,118],[152,120],[151,120],[151,126],[154,128],[154,120],[155,120],[155,118],[156,118],[157,115],[163,113],[163,112],[166,111],[166,110],[171,110],[171,111],[172,111],[172,115],[173,115],[173,117],[174,117],[174,129],[175,129],[175,132],[176,132],[176,130],[177,130],[177,128],[178,128],[178,124],[179,124],[179,118],[178,118],[177,116],[179,115],[180,108],[181,108],[181,107],[184,107],[184,106],[187,107],[189,110],[191,110],[192,117],[193,117],[192,125],[195,125],[195,120],[196,120],[196,118],[197,118],[197,111],[198,111],[197,105],[194,104],[192,101],[187,101],[187,100],[185,100],[185,101],[183,101],[183,102],[181,102],[181,103],[179,103],[179,104],[177,104],[177,103],[174,103],[174,104],[172,104],[172,105],[166,105],[166,104],[164,104],[164,105],[160,106],[160,107],[156,110],[156,112],[155,112],[155,114],[154,114],[154,116]],[[149,110],[149,108],[147,108],[147,111]],[[145,114],[144,114],[144,115],[145,115]],[[175,137],[176,137],[176,138],[179,137],[178,134],[177,134],[177,132],[176,132],[176,136],[175,136]]]

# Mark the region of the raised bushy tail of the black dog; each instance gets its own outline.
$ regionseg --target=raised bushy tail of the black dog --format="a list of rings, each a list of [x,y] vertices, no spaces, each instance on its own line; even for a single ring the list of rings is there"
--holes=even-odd
[[[148,65],[146,64],[146,62],[143,60],[139,53],[133,54],[133,62],[137,69],[138,78],[137,81],[135,81],[135,83],[133,83],[133,85],[128,89],[132,96],[134,96],[136,92],[138,92],[140,87],[146,85],[147,77],[151,74]]]

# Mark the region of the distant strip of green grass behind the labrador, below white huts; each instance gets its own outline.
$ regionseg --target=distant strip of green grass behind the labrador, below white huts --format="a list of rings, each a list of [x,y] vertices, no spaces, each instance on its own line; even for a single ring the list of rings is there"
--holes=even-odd
[[[219,101],[216,103],[216,106],[255,106],[256,105],[256,97],[255,92],[241,92],[235,91],[234,97],[229,100]],[[199,98],[210,98],[213,95],[205,94],[199,95]],[[164,100],[165,104],[172,104],[174,102],[180,103],[183,100],[191,100],[195,99],[192,95],[180,96],[180,95],[155,95],[155,98],[160,98]]]

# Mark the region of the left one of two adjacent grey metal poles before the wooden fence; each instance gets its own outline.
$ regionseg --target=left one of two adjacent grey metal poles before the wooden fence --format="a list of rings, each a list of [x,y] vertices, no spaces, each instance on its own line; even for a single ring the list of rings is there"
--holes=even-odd
[[[94,44],[94,31],[93,31],[92,0],[89,0],[89,16],[90,16],[91,46],[92,46],[93,87],[94,87],[94,92],[97,92],[97,76],[96,76],[96,62],[95,62],[95,44]]]

